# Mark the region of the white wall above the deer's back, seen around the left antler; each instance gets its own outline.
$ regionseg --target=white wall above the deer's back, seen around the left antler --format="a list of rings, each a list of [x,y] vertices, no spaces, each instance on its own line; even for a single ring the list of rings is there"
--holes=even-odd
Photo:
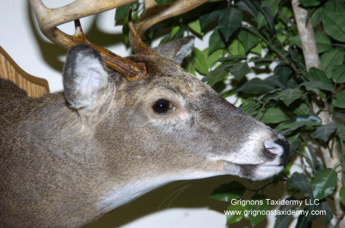
[[[72,0],[43,1],[46,6],[51,8],[63,6],[70,2]],[[51,92],[62,90],[61,70],[66,58],[66,50],[57,47],[46,37],[43,37],[28,1],[1,0],[0,10],[1,47],[23,70],[34,76],[47,79]],[[116,39],[121,35],[121,27],[114,26],[114,15],[115,10],[99,14],[96,28],[97,32],[105,32],[108,37],[114,34],[113,38]],[[95,21],[95,16],[81,20],[85,34],[88,34],[93,21]],[[61,25],[59,28],[69,34],[74,33],[73,23]],[[121,41],[117,41],[117,45],[108,45],[106,48],[123,56],[130,53],[130,50],[127,50]]]

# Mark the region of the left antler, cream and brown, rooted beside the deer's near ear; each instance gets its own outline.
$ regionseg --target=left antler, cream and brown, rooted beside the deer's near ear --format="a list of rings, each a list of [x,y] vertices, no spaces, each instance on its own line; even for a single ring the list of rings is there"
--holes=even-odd
[[[146,74],[144,63],[133,63],[105,48],[90,43],[90,41],[84,37],[79,22],[81,17],[124,6],[135,0],[76,0],[67,6],[55,9],[47,8],[43,5],[41,0],[29,1],[36,14],[39,28],[50,41],[64,48],[70,48],[72,45],[77,45],[78,43],[88,43],[101,53],[101,56],[110,68],[126,75],[126,79],[130,81]],[[57,28],[57,25],[73,20],[75,21],[74,35],[68,35]]]

